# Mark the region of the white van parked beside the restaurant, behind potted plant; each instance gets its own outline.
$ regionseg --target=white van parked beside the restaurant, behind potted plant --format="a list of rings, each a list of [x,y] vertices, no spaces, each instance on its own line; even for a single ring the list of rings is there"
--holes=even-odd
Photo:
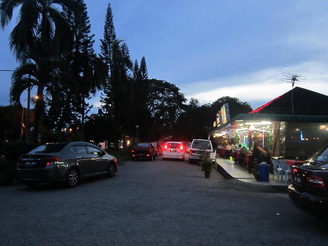
[[[200,161],[204,151],[210,153],[210,157],[215,164],[216,149],[213,149],[212,142],[206,139],[194,139],[190,144],[189,163]]]

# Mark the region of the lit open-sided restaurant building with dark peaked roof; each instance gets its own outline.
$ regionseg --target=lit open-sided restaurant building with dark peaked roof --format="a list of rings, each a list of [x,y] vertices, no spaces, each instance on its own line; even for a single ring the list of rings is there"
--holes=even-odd
[[[328,142],[327,105],[328,96],[295,87],[249,113],[214,124],[209,138],[251,149],[257,136],[271,156],[307,159]]]

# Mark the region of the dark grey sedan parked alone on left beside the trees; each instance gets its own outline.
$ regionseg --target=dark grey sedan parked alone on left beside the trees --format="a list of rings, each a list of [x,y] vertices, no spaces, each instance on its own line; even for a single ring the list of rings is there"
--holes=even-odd
[[[47,143],[25,155],[17,163],[17,179],[34,187],[41,182],[66,182],[74,187],[79,179],[117,172],[114,156],[86,142]]]

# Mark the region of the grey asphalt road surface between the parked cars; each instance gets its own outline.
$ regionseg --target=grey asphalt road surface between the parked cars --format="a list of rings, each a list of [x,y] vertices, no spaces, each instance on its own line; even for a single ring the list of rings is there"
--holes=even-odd
[[[328,235],[286,194],[216,171],[204,179],[187,161],[126,162],[72,189],[2,186],[0,198],[0,245],[326,245]]]

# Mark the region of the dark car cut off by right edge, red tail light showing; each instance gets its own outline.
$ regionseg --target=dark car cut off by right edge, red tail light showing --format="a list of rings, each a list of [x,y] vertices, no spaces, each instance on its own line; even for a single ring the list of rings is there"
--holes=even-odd
[[[306,162],[292,168],[293,183],[288,194],[301,210],[328,217],[328,144]]]

